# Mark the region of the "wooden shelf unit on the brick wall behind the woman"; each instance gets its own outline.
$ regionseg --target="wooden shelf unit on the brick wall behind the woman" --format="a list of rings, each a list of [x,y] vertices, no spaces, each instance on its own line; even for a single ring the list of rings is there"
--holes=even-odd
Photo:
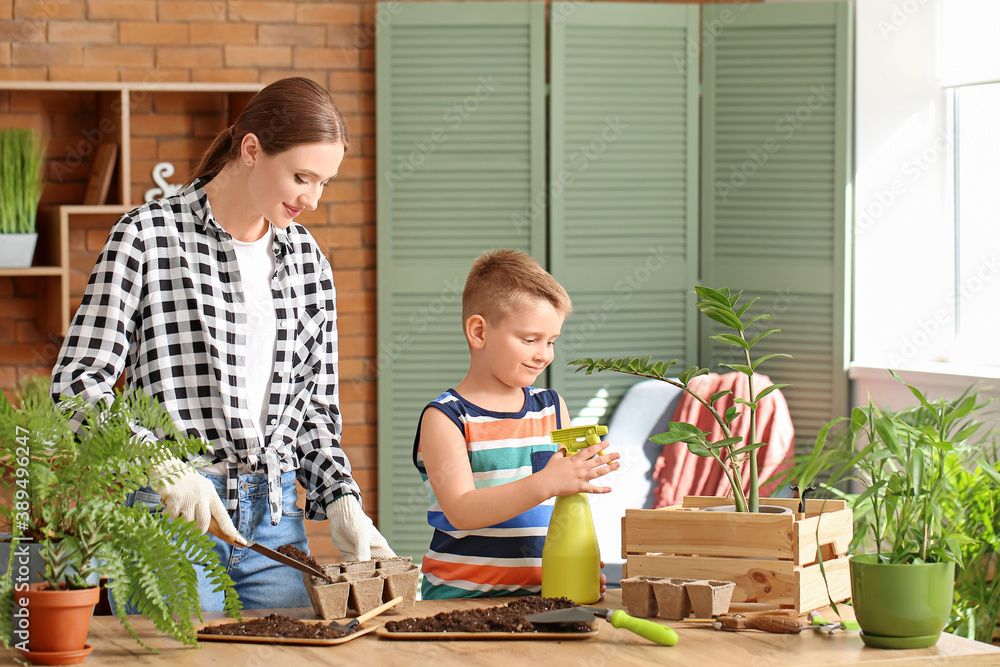
[[[0,278],[40,281],[38,326],[63,336],[111,225],[156,187],[152,167],[170,162],[171,183],[236,121],[262,84],[0,81],[0,127],[49,139],[46,187],[32,266]],[[107,201],[83,205],[98,146],[118,144]]]

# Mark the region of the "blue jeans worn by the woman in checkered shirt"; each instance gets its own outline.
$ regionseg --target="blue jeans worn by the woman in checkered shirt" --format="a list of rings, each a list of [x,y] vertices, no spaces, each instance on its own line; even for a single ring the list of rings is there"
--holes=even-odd
[[[215,485],[222,501],[226,498],[226,476],[202,473]],[[240,535],[260,542],[266,547],[277,549],[292,544],[309,550],[306,541],[305,519],[302,508],[296,501],[295,471],[281,474],[281,521],[271,525],[267,505],[267,478],[263,474],[240,475],[240,507],[234,523]],[[160,497],[150,488],[129,494],[127,505],[145,503],[151,511],[163,509]],[[236,584],[236,592],[244,609],[277,609],[283,607],[311,607],[302,573],[295,568],[282,565],[251,549],[242,549],[226,544],[210,535],[215,542],[215,553],[219,562]],[[213,591],[205,577],[204,568],[196,565],[198,572],[198,596],[203,611],[222,611],[224,596],[221,591]],[[138,613],[126,605],[128,613]]]

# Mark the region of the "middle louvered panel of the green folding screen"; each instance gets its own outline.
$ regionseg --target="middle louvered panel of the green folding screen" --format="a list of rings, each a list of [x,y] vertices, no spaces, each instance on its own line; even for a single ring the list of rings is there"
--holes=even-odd
[[[697,5],[553,3],[549,270],[569,291],[551,385],[607,420],[634,378],[580,356],[694,363],[698,272]]]

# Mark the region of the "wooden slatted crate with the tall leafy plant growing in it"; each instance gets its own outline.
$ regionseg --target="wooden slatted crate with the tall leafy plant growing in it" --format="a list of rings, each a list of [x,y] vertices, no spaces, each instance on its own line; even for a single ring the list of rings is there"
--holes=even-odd
[[[719,497],[687,497],[683,506],[662,509],[628,509],[622,522],[622,551],[629,577],[678,577],[733,581],[734,602],[766,603],[790,607],[799,613],[825,607],[829,600],[850,597],[847,546],[851,542],[853,518],[844,501],[823,505],[794,498],[767,499],[782,511],[761,512],[757,450],[765,443],[757,439],[757,411],[769,394],[785,384],[760,386],[756,370],[761,363],[786,354],[753,358],[753,348],[778,329],[751,333],[756,323],[770,315],[749,316],[756,299],[740,305],[741,293],[729,289],[696,287],[697,308],[707,318],[730,331],[711,339],[732,346],[740,362],[721,366],[746,376],[749,398],[733,397],[723,407],[720,401],[731,391],[705,397],[691,380],[709,370],[692,366],[671,377],[673,361],[645,358],[577,359],[569,362],[587,374],[614,371],[667,382],[687,392],[707,410],[720,427],[721,437],[694,424],[670,422],[669,429],[650,438],[654,443],[683,443],[697,456],[710,457],[721,466],[732,490],[736,512],[700,512],[725,504]],[[759,326],[759,325],[757,325]],[[745,429],[734,429],[737,420]],[[745,433],[745,435],[744,435]],[[744,485],[744,468],[747,483]],[[822,531],[820,522],[822,521]],[[827,556],[826,562],[819,554]],[[824,580],[829,582],[829,596]],[[624,590],[624,587],[623,587]]]

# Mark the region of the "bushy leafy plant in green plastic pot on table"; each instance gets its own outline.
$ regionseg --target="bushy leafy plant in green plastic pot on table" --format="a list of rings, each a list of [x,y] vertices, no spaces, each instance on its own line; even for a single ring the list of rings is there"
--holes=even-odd
[[[982,407],[975,393],[932,403],[906,386],[919,405],[896,413],[870,401],[854,408],[844,437],[827,435],[846,418],[828,423],[790,471],[800,484],[826,476],[819,485],[854,509],[857,539],[871,549],[851,558],[854,612],[865,644],[878,648],[937,643],[953,607],[956,566],[988,528],[960,518],[973,509],[965,503],[974,493],[995,514],[1000,502],[1000,473],[981,457],[989,439],[974,419]],[[837,490],[847,480],[860,493]]]

